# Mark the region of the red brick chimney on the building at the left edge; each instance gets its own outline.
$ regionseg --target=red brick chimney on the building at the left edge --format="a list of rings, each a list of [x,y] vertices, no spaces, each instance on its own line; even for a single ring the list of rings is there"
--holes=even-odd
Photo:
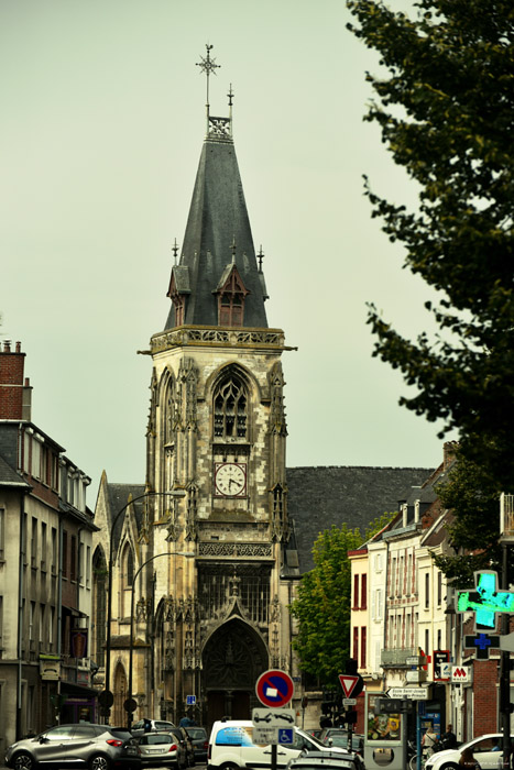
[[[30,420],[32,388],[23,378],[25,354],[17,342],[11,350],[10,340],[0,348],[0,419]]]

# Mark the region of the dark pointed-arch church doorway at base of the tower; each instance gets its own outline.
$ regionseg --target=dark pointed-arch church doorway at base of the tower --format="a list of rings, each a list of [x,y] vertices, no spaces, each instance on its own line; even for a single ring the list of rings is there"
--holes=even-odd
[[[215,631],[203,656],[207,724],[223,716],[251,719],[260,705],[255,682],[267,669],[264,640],[248,624],[233,618]]]

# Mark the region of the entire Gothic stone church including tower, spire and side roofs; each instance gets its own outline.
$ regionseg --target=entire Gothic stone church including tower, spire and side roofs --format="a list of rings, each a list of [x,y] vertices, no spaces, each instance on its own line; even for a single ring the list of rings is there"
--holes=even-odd
[[[92,657],[98,716],[111,724],[250,718],[269,669],[293,678],[300,708],[288,606],[316,538],[332,525],[365,527],[429,473],[328,466],[286,477],[288,348],[266,320],[231,101],[230,92],[229,117],[217,118],[207,98],[169,314],[143,351],[152,361],[144,483],[103,473],[97,499]]]

